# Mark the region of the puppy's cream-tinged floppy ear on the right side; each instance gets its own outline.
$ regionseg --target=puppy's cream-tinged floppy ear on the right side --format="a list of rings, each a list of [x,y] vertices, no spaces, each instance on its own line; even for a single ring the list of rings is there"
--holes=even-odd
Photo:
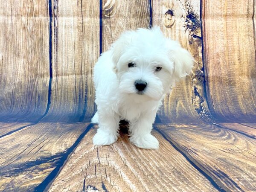
[[[194,64],[194,58],[189,51],[182,48],[177,41],[168,39],[166,41],[168,47],[169,59],[174,62],[173,76],[176,82],[185,79],[191,71]]]

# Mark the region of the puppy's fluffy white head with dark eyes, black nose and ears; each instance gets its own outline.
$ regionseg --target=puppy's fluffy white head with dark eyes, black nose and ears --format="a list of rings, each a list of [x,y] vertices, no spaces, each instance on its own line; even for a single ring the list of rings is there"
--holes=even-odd
[[[123,93],[160,100],[192,70],[192,55],[160,28],[124,32],[111,47],[114,71]]]

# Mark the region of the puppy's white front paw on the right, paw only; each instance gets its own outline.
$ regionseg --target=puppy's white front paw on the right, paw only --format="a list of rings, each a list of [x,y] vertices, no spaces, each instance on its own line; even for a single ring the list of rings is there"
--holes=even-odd
[[[158,149],[158,141],[151,134],[146,134],[143,136],[131,136],[130,142],[133,143],[135,146],[140,148],[148,148],[148,149]]]

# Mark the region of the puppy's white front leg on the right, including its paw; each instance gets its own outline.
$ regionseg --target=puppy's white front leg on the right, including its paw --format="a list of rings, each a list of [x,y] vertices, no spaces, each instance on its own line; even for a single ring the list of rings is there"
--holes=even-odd
[[[158,149],[158,141],[151,135],[155,114],[145,115],[137,121],[130,122],[130,142],[140,148]]]

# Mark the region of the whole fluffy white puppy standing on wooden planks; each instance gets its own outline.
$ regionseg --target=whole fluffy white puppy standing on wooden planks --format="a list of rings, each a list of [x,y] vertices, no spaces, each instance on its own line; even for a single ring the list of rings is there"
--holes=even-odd
[[[193,58],[160,28],[126,31],[103,53],[94,67],[99,123],[94,145],[117,140],[119,121],[129,122],[130,142],[140,148],[158,148],[151,135],[162,99],[192,70]]]

